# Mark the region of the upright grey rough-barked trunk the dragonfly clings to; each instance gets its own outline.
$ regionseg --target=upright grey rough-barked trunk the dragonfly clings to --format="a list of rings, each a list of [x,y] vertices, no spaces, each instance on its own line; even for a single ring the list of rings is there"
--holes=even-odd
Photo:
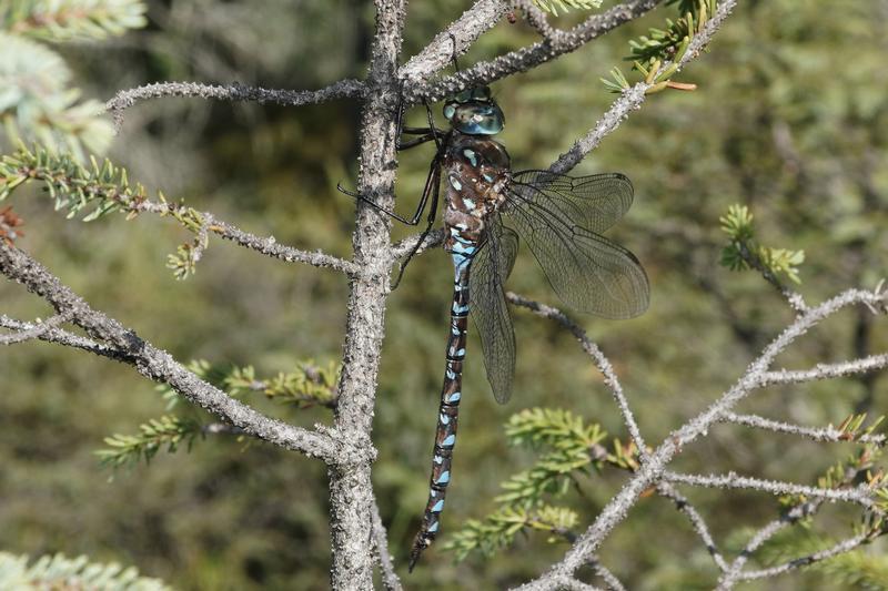
[[[361,123],[359,192],[391,207],[395,181],[395,113],[397,57],[404,22],[403,0],[376,0],[367,94]],[[351,282],[335,436],[343,460],[330,467],[333,589],[372,589],[372,502],[370,468],[374,457],[371,429],[385,300],[391,268],[390,222],[359,203],[354,232],[354,262],[360,269]]]

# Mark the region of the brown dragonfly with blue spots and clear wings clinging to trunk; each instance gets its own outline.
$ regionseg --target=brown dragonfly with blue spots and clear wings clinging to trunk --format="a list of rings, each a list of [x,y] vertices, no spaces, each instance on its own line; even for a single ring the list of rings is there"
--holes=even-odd
[[[571,308],[623,319],[642,314],[649,302],[647,275],[638,259],[601,235],[632,205],[633,185],[626,176],[513,172],[505,146],[492,139],[503,130],[505,116],[488,86],[472,88],[445,101],[450,130],[437,129],[427,105],[426,110],[428,126],[403,128],[404,133],[416,137],[400,145],[408,149],[434,141],[437,147],[412,217],[402,217],[340,187],[411,225],[418,224],[430,205],[425,231],[406,257],[408,262],[434,224],[446,179],[444,249],[453,261],[453,300],[428,500],[411,549],[411,571],[441,528],[463,396],[470,315],[480,333],[494,397],[501,404],[512,397],[515,334],[504,283],[515,263],[519,240],[527,243],[552,288]]]

